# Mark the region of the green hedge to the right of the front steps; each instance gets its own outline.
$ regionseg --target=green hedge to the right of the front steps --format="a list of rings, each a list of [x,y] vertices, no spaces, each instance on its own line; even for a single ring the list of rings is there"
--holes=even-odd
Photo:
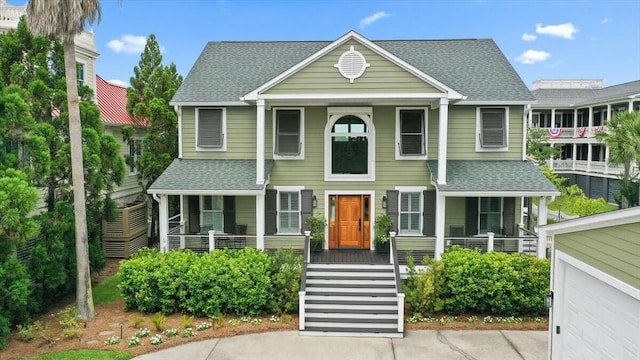
[[[543,315],[550,261],[522,254],[454,248],[405,281],[412,309],[452,315]],[[414,311],[416,311],[414,310]]]

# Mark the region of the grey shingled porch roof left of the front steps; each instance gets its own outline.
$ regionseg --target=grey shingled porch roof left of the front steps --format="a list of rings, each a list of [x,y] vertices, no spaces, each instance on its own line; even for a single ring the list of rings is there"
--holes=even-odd
[[[272,160],[265,161],[265,179]],[[149,187],[150,194],[260,194],[266,184],[256,184],[256,161],[175,159]]]

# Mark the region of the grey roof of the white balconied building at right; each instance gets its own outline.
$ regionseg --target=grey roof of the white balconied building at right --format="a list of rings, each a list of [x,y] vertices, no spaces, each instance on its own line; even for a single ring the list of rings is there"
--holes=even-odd
[[[535,107],[574,107],[624,100],[640,94],[640,80],[607,86],[602,89],[538,89],[532,91],[538,100]]]

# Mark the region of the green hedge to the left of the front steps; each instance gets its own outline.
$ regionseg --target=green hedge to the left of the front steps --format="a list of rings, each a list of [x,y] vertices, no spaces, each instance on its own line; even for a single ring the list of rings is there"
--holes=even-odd
[[[146,313],[205,316],[287,311],[301,274],[291,269],[301,260],[276,259],[250,248],[202,255],[188,250],[165,254],[143,250],[121,263],[119,286],[127,309]],[[278,269],[288,269],[285,278]]]

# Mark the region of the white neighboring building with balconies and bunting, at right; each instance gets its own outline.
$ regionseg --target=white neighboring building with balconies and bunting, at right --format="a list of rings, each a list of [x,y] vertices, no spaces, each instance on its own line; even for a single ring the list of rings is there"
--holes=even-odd
[[[602,80],[539,80],[538,100],[528,112],[529,124],[546,129],[560,149],[551,160],[554,171],[577,184],[587,196],[615,203],[622,166],[608,164],[609,148],[595,134],[622,111],[640,111],[640,80],[603,87]],[[638,164],[632,170],[638,170]]]

